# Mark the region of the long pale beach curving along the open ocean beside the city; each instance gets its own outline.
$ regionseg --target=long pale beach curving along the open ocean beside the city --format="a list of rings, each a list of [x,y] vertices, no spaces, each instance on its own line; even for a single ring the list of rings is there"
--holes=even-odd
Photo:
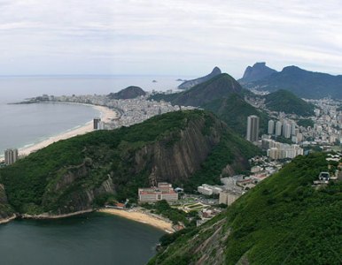
[[[113,118],[118,117],[118,113],[115,110],[108,109],[104,106],[97,106],[97,105],[90,105],[90,106],[101,112],[101,121],[105,123],[108,123]],[[81,134],[89,133],[92,131],[94,131],[94,129],[93,129],[93,121],[91,120],[86,125],[83,125],[82,127],[78,127],[72,131],[61,133],[56,136],[51,136],[49,139],[38,142],[35,145],[29,146],[27,148],[20,148],[19,155],[29,155],[39,149],[46,148],[47,146],[51,145],[52,143],[58,140],[66,140],[76,135],[81,135]]]

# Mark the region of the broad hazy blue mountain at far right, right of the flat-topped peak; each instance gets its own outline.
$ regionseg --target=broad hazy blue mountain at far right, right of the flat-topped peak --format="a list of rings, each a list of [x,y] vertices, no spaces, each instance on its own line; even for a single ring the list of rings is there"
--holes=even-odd
[[[282,72],[244,84],[270,92],[278,89],[291,91],[301,98],[320,99],[332,97],[342,99],[342,75],[333,76],[322,72],[309,72],[297,66],[284,67]]]

